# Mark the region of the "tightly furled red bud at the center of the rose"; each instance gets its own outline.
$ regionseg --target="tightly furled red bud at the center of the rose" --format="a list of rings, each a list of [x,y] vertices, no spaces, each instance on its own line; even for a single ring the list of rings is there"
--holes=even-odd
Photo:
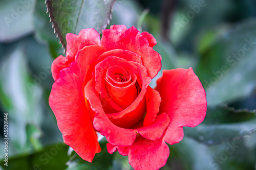
[[[137,77],[121,66],[111,66],[106,71],[105,87],[110,99],[122,109],[130,106],[137,98]]]

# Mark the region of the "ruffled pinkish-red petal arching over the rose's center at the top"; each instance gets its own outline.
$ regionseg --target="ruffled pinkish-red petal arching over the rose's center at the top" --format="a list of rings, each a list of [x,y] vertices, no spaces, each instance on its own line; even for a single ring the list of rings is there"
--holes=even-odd
[[[138,54],[152,79],[161,69],[160,55],[149,46],[148,40],[134,26],[123,34],[111,29],[102,30],[101,46],[108,50],[122,49]]]

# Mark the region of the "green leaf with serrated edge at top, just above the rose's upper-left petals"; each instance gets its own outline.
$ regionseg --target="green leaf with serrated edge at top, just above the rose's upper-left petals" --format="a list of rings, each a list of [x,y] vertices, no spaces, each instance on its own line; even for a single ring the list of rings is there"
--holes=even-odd
[[[110,23],[116,0],[46,0],[50,18],[57,35],[66,48],[67,33],[78,34],[84,28],[99,33]]]

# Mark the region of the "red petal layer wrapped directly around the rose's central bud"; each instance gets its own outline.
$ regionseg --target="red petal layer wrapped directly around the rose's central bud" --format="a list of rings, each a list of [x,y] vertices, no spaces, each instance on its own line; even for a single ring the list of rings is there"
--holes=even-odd
[[[125,68],[127,70],[127,72],[134,72],[135,74],[138,74],[137,82],[141,86],[141,91],[140,91],[139,95],[137,96],[137,98],[126,109],[124,109],[120,112],[117,112],[117,113],[107,114],[107,116],[110,118],[111,122],[113,122],[115,125],[122,127],[122,128],[131,128],[140,121],[140,119],[143,117],[143,115],[146,112],[146,105],[145,105],[145,101],[143,99],[144,99],[144,95],[146,92],[146,87],[150,84],[151,79],[150,79],[150,77],[147,77],[146,68],[144,66],[142,66],[141,64],[139,64],[137,62],[133,62],[133,61],[127,61],[125,59],[118,58],[115,56],[109,56],[105,60],[99,62],[95,66],[95,81],[96,81],[95,89],[98,93],[100,93],[101,98],[105,98],[105,96],[108,96],[108,93],[105,88],[106,85],[104,83],[103,75],[105,75],[106,69],[109,68],[110,66],[112,66],[113,63],[115,65],[122,66],[123,68]],[[143,82],[141,82],[141,80],[143,80]],[[133,86],[131,86],[131,87],[133,87]],[[135,88],[135,90],[136,90],[136,88]],[[127,92],[129,92],[129,91],[127,91]],[[130,93],[131,94],[127,94],[127,95],[134,95],[134,93],[137,94],[137,92],[130,92]],[[111,100],[115,101],[115,103],[117,104],[118,99],[115,99],[116,96],[118,96],[118,95],[113,94],[110,97],[111,97]],[[132,97],[134,97],[134,96],[131,96],[131,98]],[[124,100],[129,100],[129,96],[128,96],[128,98],[125,98],[125,96],[124,96]],[[129,101],[129,102],[131,102],[131,101]],[[121,108],[124,108],[125,106],[122,103],[124,104],[124,103],[126,103],[126,101],[122,100],[121,102],[118,103],[118,104],[120,104],[119,106]],[[124,115],[126,115],[124,118],[114,120],[117,118],[121,118]]]

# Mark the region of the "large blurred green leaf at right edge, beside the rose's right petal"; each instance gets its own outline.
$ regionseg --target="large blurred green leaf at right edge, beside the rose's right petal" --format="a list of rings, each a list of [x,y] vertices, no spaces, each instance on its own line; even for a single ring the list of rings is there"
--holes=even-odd
[[[256,87],[255,27],[255,19],[225,27],[220,36],[217,31],[215,42],[209,33],[209,45],[198,47],[195,72],[206,89],[208,106],[245,98]]]

